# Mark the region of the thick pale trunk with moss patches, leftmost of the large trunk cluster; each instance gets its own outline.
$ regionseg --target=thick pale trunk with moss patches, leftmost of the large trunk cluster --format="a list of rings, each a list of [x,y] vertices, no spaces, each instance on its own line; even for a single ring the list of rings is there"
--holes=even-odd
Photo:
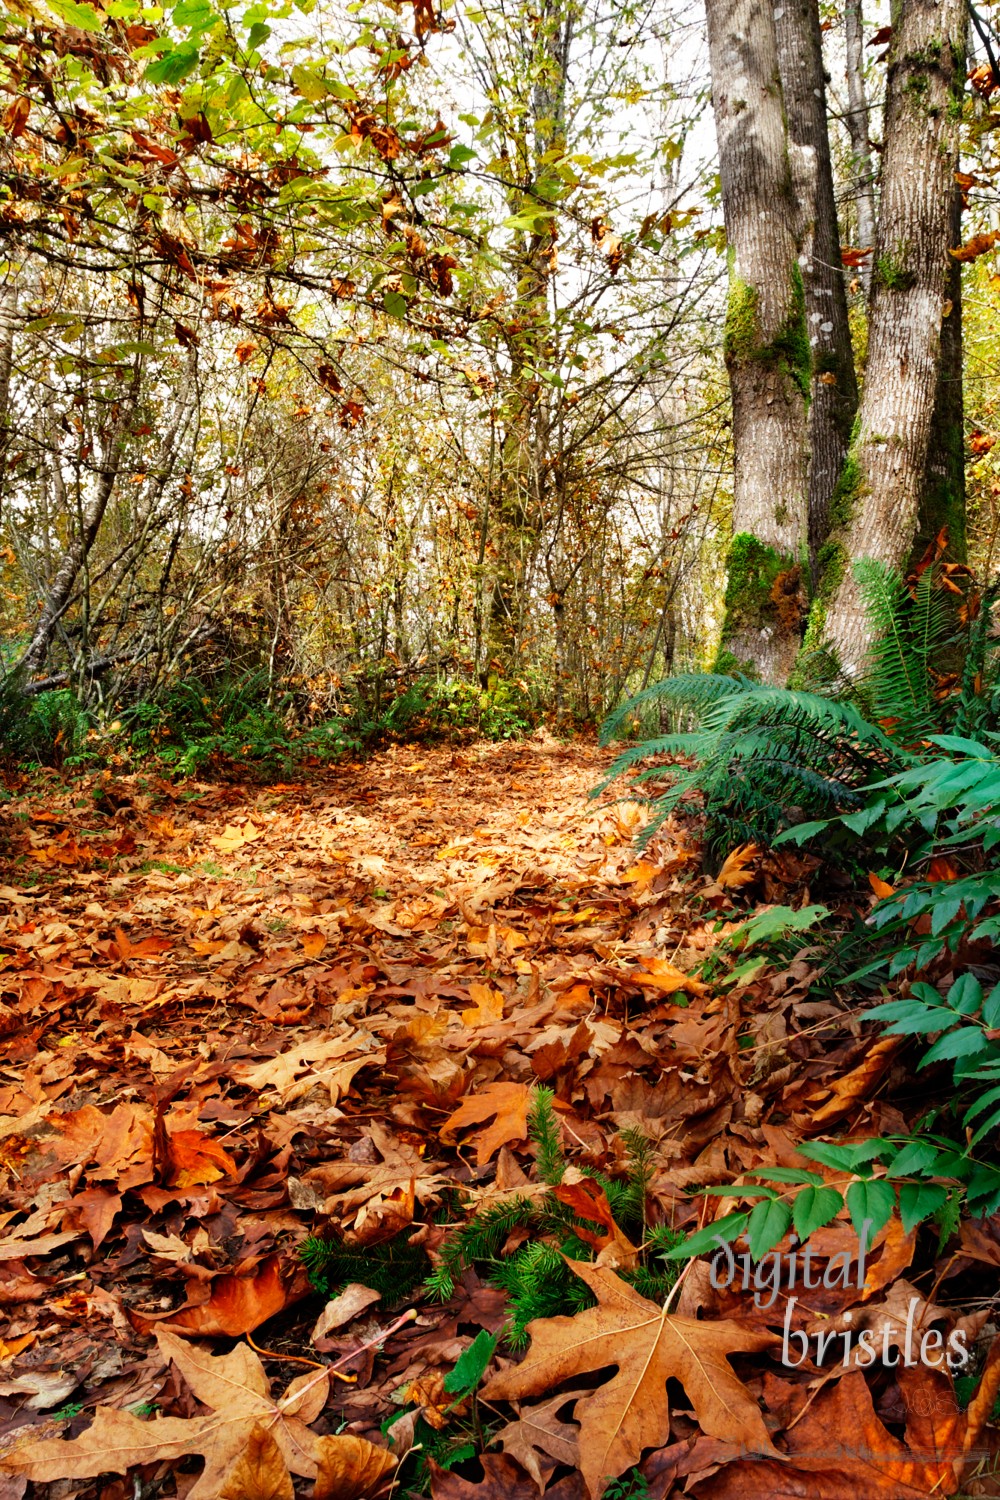
[[[726,364],[735,494],[720,666],[783,682],[808,564],[811,357],[771,6],[708,0],[730,254]]]

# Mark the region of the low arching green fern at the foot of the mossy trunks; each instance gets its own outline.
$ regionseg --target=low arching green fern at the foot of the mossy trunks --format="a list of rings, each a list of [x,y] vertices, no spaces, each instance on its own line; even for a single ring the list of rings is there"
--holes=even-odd
[[[637,782],[669,776],[642,843],[694,792],[705,802],[709,848],[766,843],[783,826],[861,807],[862,788],[901,760],[888,735],[850,704],[714,674],[654,684],[609,716],[601,741],[628,732],[651,704],[685,712],[697,728],[625,750],[597,788],[649,760]],[[667,768],[663,756],[694,764]]]

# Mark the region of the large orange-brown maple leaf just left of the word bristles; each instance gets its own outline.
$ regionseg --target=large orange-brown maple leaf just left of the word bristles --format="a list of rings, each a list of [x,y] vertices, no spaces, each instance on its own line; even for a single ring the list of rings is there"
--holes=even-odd
[[[777,1340],[771,1334],[673,1316],[606,1266],[567,1264],[586,1281],[597,1306],[574,1317],[529,1323],[528,1356],[490,1380],[483,1392],[487,1401],[550,1395],[564,1380],[616,1366],[616,1374],[580,1396],[574,1410],[580,1472],[595,1497],[609,1479],[639,1462],[645,1448],[669,1442],[666,1386],[672,1378],[684,1386],[709,1437],[739,1443],[748,1452],[775,1454],[757,1402],[727,1358],[772,1347]]]

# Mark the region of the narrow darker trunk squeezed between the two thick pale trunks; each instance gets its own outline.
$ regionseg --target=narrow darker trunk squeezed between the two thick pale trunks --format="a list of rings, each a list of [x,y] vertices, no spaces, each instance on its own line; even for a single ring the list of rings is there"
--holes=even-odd
[[[789,164],[799,210],[799,266],[813,352],[810,402],[810,550],[826,540],[834,486],[858,411],[855,352],[840,258],[826,75],[817,0],[783,0],[774,12]]]

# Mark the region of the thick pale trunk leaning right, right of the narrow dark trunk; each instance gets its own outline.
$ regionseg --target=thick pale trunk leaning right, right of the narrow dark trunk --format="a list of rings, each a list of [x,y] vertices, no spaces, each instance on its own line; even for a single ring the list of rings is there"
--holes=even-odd
[[[852,564],[903,567],[918,530],[949,302],[964,0],[901,0],[892,33],[868,363],[807,648],[844,678],[864,666],[868,621]]]

